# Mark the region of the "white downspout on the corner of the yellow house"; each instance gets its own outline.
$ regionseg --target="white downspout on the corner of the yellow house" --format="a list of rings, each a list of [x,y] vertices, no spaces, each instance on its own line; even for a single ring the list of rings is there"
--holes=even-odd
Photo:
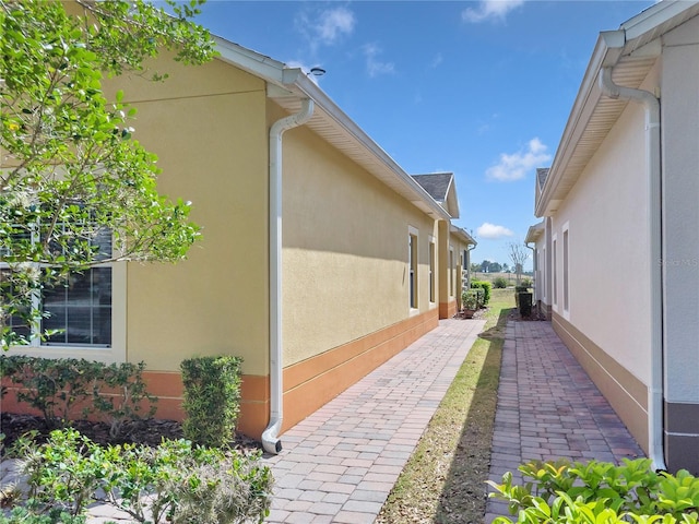
[[[313,100],[305,98],[296,115],[284,117],[270,128],[270,424],[262,432],[268,453],[282,451],[279,439],[284,419],[282,372],[282,134],[303,126],[313,115]]]

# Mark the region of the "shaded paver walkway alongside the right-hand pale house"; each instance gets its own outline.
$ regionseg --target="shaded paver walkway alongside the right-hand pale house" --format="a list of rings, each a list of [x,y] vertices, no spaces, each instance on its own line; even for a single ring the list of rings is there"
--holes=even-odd
[[[644,456],[550,322],[509,322],[502,350],[490,479],[531,460],[596,458],[618,463]],[[509,515],[488,501],[486,522]],[[514,520],[514,519],[512,519]]]

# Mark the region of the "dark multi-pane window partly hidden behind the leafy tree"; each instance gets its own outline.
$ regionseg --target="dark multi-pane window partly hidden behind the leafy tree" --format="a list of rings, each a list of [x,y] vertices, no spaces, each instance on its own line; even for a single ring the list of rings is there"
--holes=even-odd
[[[32,233],[29,241],[36,241],[36,233]],[[91,241],[98,249],[97,260],[106,260],[111,255],[111,233],[100,231]],[[2,272],[9,272],[8,264],[1,264]],[[44,271],[44,270],[42,270]],[[36,293],[29,306],[39,309],[45,315],[40,322],[40,332],[54,333],[42,341],[38,332],[32,332],[20,315],[12,317],[9,322],[15,333],[31,342],[32,346],[111,346],[111,281],[112,267],[106,263],[72,273],[66,278],[47,285]]]

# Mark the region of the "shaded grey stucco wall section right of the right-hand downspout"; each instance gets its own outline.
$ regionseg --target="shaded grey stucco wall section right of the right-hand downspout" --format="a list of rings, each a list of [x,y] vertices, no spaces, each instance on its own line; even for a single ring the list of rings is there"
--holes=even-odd
[[[664,38],[666,398],[699,403],[699,16]]]

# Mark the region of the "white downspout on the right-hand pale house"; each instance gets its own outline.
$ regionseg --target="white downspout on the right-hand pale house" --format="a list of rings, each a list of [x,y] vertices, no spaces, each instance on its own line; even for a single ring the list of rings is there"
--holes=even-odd
[[[645,169],[649,195],[650,230],[650,325],[651,384],[648,392],[648,449],[655,469],[666,469],[663,445],[663,281],[662,281],[662,204],[660,100],[643,90],[623,87],[612,80],[612,68],[599,76],[602,94],[642,104],[645,109]]]

